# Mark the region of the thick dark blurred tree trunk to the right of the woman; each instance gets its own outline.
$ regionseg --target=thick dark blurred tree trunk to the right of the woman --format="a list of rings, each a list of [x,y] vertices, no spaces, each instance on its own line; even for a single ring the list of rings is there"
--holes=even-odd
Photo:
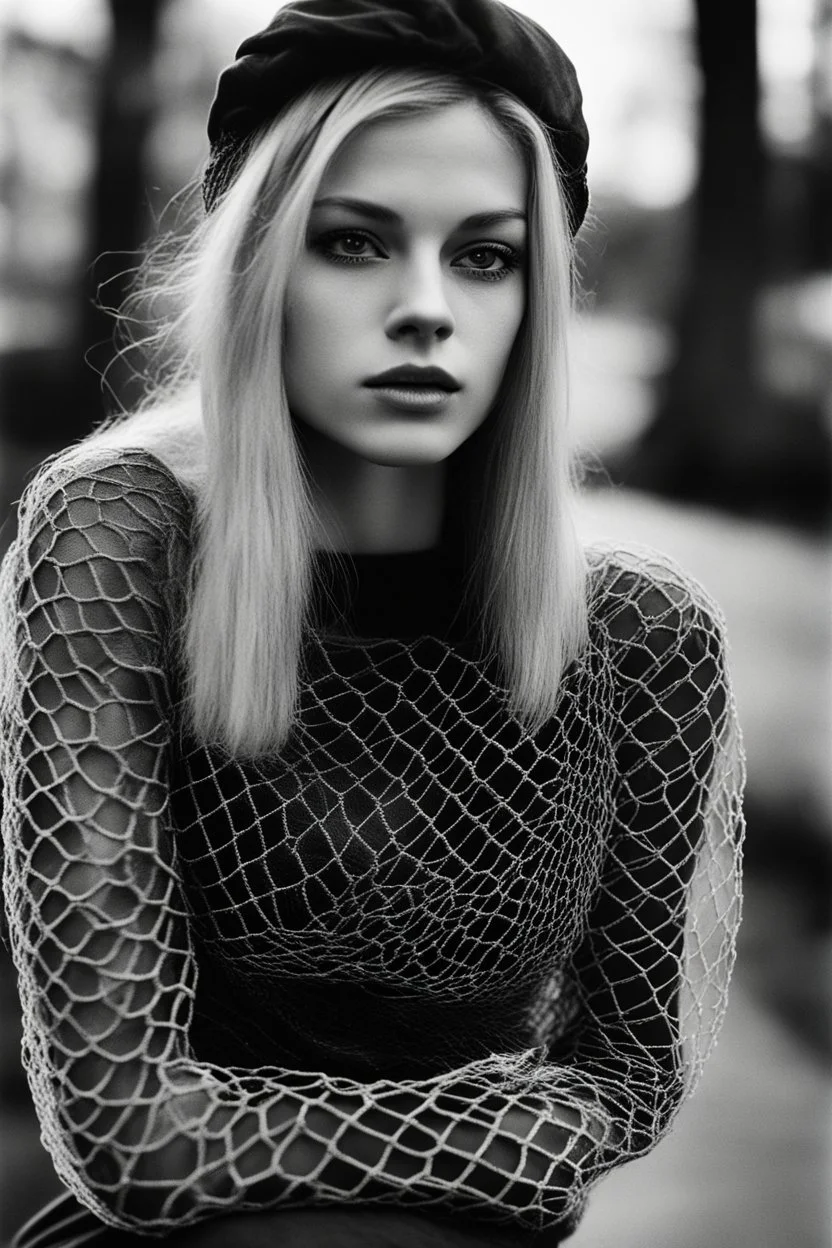
[[[756,0],[696,0],[696,42],[700,176],[677,353],[627,480],[730,502],[722,495],[770,432],[755,358],[765,191]]]

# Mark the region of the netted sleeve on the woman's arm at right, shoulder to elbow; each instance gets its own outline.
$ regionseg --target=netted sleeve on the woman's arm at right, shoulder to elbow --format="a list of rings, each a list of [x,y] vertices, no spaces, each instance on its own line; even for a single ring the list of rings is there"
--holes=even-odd
[[[560,1061],[610,1123],[605,1164],[664,1134],[726,1007],[741,909],[745,764],[717,608],[646,552],[616,557],[602,628],[617,690],[615,815],[573,971]]]

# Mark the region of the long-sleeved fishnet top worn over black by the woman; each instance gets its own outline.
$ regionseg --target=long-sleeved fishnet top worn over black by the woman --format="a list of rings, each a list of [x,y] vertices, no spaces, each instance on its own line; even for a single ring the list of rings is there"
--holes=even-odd
[[[162,1234],[343,1202],[574,1227],[712,1046],[741,751],[717,615],[590,552],[536,734],[464,638],[311,639],[298,730],[188,738],[193,505],[146,452],[41,472],[4,563],[5,889],[64,1182]]]

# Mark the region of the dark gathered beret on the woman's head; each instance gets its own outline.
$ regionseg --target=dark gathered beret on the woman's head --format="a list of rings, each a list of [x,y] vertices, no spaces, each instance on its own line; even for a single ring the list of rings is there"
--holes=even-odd
[[[303,91],[380,66],[420,66],[503,87],[549,131],[573,232],[586,215],[586,149],[575,66],[530,17],[499,0],[291,0],[241,44],[208,116],[211,210],[248,140]]]

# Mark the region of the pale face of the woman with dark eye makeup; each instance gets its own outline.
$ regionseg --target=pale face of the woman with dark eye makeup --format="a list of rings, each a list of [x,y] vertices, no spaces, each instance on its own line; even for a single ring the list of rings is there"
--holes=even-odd
[[[348,140],[289,277],[292,414],[373,463],[452,454],[523,319],[525,205],[523,157],[473,101]]]

